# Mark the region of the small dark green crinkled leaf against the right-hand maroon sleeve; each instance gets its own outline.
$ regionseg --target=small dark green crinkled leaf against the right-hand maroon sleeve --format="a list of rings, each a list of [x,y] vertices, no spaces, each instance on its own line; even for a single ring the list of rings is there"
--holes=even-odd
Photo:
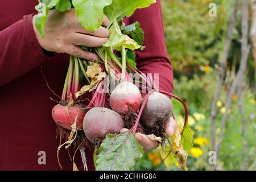
[[[123,27],[122,33],[125,35],[130,35],[135,42],[142,46],[144,42],[144,31],[142,30],[139,22],[134,22],[129,26]]]

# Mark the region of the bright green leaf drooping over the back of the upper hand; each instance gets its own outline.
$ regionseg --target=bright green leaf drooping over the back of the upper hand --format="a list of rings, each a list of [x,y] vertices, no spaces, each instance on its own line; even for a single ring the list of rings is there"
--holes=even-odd
[[[103,9],[112,0],[72,0],[79,22],[86,30],[96,31],[103,21]]]

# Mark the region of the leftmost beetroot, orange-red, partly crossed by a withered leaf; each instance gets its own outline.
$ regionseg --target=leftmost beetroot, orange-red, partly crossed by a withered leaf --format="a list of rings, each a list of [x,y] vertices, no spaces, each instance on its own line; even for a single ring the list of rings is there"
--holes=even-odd
[[[82,121],[86,113],[86,109],[81,109],[82,107],[79,104],[73,106],[57,104],[52,109],[52,118],[57,125],[71,130],[71,125],[73,125],[77,116],[76,126],[82,129]]]

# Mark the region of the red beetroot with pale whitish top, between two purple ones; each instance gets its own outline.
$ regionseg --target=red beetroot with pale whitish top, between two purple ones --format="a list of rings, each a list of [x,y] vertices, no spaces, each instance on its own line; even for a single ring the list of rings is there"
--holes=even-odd
[[[110,94],[111,109],[120,114],[128,114],[130,110],[136,112],[141,105],[141,92],[136,85],[123,81]]]

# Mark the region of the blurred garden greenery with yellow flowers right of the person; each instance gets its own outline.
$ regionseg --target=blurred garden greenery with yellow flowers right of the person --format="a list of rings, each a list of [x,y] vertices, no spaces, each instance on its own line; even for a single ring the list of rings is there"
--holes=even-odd
[[[237,5],[237,15],[232,30],[231,44],[226,59],[226,70],[216,108],[215,140],[221,130],[223,139],[217,164],[209,165],[209,151],[212,150],[212,119],[210,110],[216,92],[220,60],[224,54],[230,16],[234,0],[162,0],[164,28],[168,53],[174,68],[174,94],[188,105],[188,122],[195,131],[193,147],[189,151],[189,170],[256,170],[256,89],[255,61],[253,51],[249,52],[247,67],[242,82],[243,118],[238,107],[237,93],[232,95],[232,105],[226,109],[230,88],[241,63],[241,14],[242,1]],[[209,16],[209,4],[216,3],[217,16]],[[253,1],[251,1],[253,2]],[[249,7],[248,44],[251,44],[251,3]],[[180,127],[183,126],[183,107],[172,100],[174,114]],[[228,114],[224,127],[221,119]],[[243,129],[242,120],[246,121]],[[245,126],[245,125],[244,125]],[[244,130],[242,132],[242,129]],[[172,164],[167,168],[160,160],[160,154],[151,151],[135,166],[137,170],[181,170]]]

